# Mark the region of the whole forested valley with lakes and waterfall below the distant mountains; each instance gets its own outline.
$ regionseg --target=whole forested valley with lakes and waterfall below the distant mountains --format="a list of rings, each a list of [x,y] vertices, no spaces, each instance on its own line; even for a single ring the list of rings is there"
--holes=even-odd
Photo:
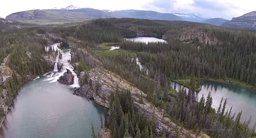
[[[130,18],[5,29],[3,137],[256,136],[254,91],[209,81],[255,87],[253,32]]]

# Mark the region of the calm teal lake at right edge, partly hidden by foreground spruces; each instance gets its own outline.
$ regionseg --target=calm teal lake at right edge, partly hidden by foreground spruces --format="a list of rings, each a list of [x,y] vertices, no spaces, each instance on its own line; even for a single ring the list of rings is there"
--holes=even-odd
[[[175,90],[180,90],[181,86],[177,82],[171,82],[171,86]],[[186,88],[187,89],[187,88]],[[188,90],[188,89],[187,89]],[[250,89],[245,89],[240,86],[224,84],[215,81],[201,81],[201,91],[196,94],[198,100],[204,95],[204,98],[207,98],[207,95],[211,92],[213,101],[212,108],[218,109],[220,105],[221,98],[227,98],[226,110],[230,109],[232,106],[232,113],[236,115],[242,112],[241,122],[244,122],[245,119],[251,119],[250,127],[253,127],[256,121],[256,92]],[[223,103],[224,103],[223,101]],[[223,105],[222,103],[222,105]]]

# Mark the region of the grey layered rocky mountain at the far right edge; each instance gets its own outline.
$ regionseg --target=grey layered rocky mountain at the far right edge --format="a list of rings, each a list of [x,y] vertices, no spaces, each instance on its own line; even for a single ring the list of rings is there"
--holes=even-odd
[[[233,17],[231,21],[226,22],[222,26],[256,30],[256,11],[246,13],[245,15],[240,17]]]

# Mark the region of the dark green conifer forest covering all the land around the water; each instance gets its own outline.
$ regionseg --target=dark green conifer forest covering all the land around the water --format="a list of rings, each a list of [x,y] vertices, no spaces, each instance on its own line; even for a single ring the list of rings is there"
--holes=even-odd
[[[195,31],[202,35],[184,35],[184,32]],[[42,56],[47,54],[44,50],[47,40],[37,35],[47,35],[46,32],[60,36],[71,44],[71,52],[75,53],[71,60],[79,63],[75,67],[78,74],[103,65],[142,90],[147,94],[144,97],[146,100],[163,109],[164,116],[181,127],[195,133],[203,131],[216,138],[255,136],[255,125],[254,128],[248,127],[254,122],[248,119],[241,123],[242,112],[233,113],[232,109],[226,109],[225,99],[217,111],[211,107],[210,92],[207,99],[195,99],[196,80],[199,78],[232,78],[256,87],[254,33],[191,22],[125,18],[5,32],[0,34],[0,60],[9,56],[8,65],[13,69],[13,77],[0,86],[1,89],[7,89],[13,95],[26,76],[37,76],[48,69],[42,60]],[[126,36],[167,36],[167,43],[123,40]],[[120,49],[109,51],[106,42],[118,43]],[[148,72],[141,71],[134,62],[137,57]],[[191,80],[188,92],[184,89],[176,92],[170,87],[170,80],[187,78]],[[148,118],[141,111],[134,110],[129,90],[113,92],[110,101],[110,117],[105,127],[110,128],[113,138],[165,137],[164,133],[157,134],[155,131],[157,121],[154,114]]]

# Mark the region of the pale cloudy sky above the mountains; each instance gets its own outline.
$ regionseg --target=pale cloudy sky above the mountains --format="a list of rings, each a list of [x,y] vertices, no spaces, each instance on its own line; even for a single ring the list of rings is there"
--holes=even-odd
[[[75,5],[99,10],[152,10],[161,13],[196,13],[231,19],[256,11],[256,0],[1,0],[0,16],[18,11],[65,8]]]

